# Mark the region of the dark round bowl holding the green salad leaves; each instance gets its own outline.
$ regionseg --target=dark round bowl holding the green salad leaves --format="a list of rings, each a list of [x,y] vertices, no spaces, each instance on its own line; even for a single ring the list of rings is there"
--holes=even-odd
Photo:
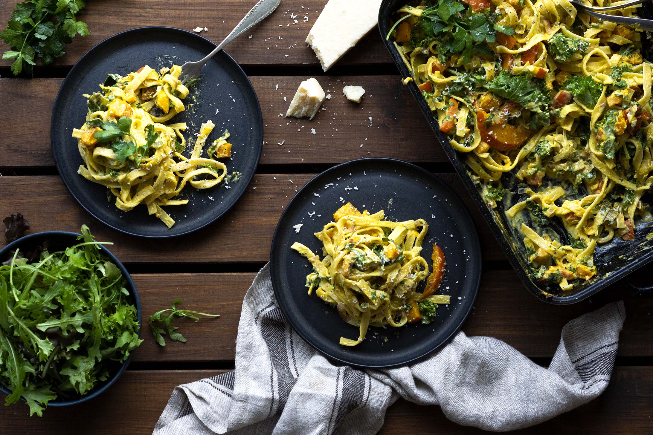
[[[79,235],[80,235],[79,233],[72,233],[67,231],[46,231],[42,233],[34,233],[34,234],[26,235],[25,237],[21,237],[20,239],[13,241],[12,243],[9,243],[6,247],[0,250],[0,262],[4,262],[5,260],[7,260],[7,258],[9,257],[9,252],[15,250],[16,248],[24,252],[29,252],[30,250],[33,250],[35,247],[41,245],[46,240],[48,241],[48,246],[50,247],[50,250],[52,250],[52,252],[63,250],[67,247],[71,247],[79,243],[79,241],[77,240],[77,237]],[[112,263],[114,263],[122,273],[123,277],[125,277],[125,280],[127,280],[127,286],[125,287],[131,294],[131,297],[133,298],[132,302],[134,303],[134,305],[136,305],[136,312],[138,312],[138,337],[140,337],[140,331],[142,329],[141,328],[142,312],[140,308],[140,299],[138,298],[138,292],[136,292],[136,286],[134,285],[133,280],[129,276],[129,273],[127,273],[127,269],[125,269],[125,266],[123,266],[123,264],[118,261],[118,258],[116,258],[116,256],[114,256],[114,254],[112,254],[111,251],[105,248],[103,245],[99,245],[99,247],[103,256],[106,257],[108,260],[110,260]],[[118,380],[120,375],[125,371],[129,363],[131,363],[131,359],[134,357],[134,352],[135,350],[133,350],[129,354],[127,361],[125,361],[121,365],[121,367],[114,373],[113,376],[111,376],[111,378],[109,378],[106,382],[99,385],[99,387],[89,391],[88,394],[84,395],[83,397],[75,398],[72,400],[51,400],[50,402],[48,402],[48,406],[76,405],[101,395],[114,382],[116,382],[116,380]],[[9,391],[8,389],[2,386],[0,386],[0,391],[6,394],[11,394],[11,391]],[[21,397],[20,400],[24,401],[24,398]]]

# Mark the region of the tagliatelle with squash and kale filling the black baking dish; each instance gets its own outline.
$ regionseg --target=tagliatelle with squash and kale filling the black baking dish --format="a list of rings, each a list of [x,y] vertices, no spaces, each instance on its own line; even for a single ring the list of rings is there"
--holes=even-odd
[[[567,0],[437,0],[400,8],[387,36],[548,292],[595,277],[597,247],[651,220],[647,33]]]

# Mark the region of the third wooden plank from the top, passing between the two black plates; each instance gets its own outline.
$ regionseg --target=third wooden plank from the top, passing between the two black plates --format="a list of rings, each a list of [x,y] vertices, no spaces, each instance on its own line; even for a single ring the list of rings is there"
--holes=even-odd
[[[455,190],[464,190],[457,175],[439,175]],[[283,208],[293,198],[295,190],[312,177],[312,174],[257,174],[251,183],[256,190],[248,188],[238,204],[217,222],[198,232],[163,242],[125,235],[104,226],[73,200],[57,176],[0,177],[0,192],[3,192],[0,215],[22,213],[31,225],[31,232],[79,232],[80,226],[86,223],[98,240],[114,242],[111,251],[126,263],[267,262],[272,235]],[[80,177],[80,183],[88,181]],[[477,226],[484,258],[505,259],[470,196],[464,194],[461,198],[467,203]],[[130,213],[145,212],[135,209]],[[152,218],[152,224],[161,223]],[[0,247],[3,246],[5,240],[1,238]],[[234,252],[238,255],[234,256]]]

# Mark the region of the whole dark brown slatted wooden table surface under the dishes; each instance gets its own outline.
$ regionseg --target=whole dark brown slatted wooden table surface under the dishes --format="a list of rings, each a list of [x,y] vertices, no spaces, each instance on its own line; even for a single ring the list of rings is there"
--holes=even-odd
[[[317,172],[360,157],[394,157],[417,162],[445,179],[467,203],[477,225],[484,258],[475,308],[463,330],[511,344],[547,365],[565,322],[623,299],[626,324],[620,337],[613,379],[590,404],[560,415],[524,434],[650,434],[653,427],[653,301],[631,295],[619,284],[568,307],[547,305],[520,284],[502,250],[475,209],[453,166],[436,143],[386,52],[376,29],[324,74],[304,43],[326,0],[283,0],[263,23],[234,41],[229,52],[251,79],[263,108],[263,155],[252,185],[236,206],[204,230],[168,241],[118,233],[80,207],[67,192],[50,151],[50,115],[59,85],[89,48],[115,33],[139,26],[208,27],[202,36],[219,42],[254,0],[89,1],[82,20],[91,35],[74,38],[66,55],[50,67],[37,66],[31,79],[13,78],[0,61],[3,132],[0,139],[0,217],[20,212],[32,232],[78,231],[86,223],[133,274],[144,317],[183,297],[189,308],[219,312],[217,320],[180,320],[186,343],[157,346],[144,325],[142,346],[120,380],[101,397],[80,406],[50,408],[28,417],[24,404],[0,407],[3,433],[150,434],[175,385],[234,365],[236,328],[242,298],[255,273],[268,261],[272,233],[281,211]],[[7,22],[14,1],[0,5]],[[299,17],[294,23],[291,14]],[[304,22],[304,16],[308,21]],[[6,46],[0,45],[4,51]],[[288,102],[302,80],[315,76],[334,97],[313,119],[287,120]],[[342,97],[345,84],[362,85],[360,104]],[[279,86],[276,89],[276,86]],[[372,127],[368,117],[372,117]],[[302,126],[305,126],[302,128]],[[317,133],[311,134],[310,128]],[[298,129],[300,131],[298,131]],[[278,145],[283,143],[283,145]],[[360,144],[362,143],[362,147]],[[290,183],[289,179],[293,180]],[[220,226],[220,231],[215,228]],[[0,241],[0,248],[4,240]],[[242,249],[242,247],[247,247]],[[238,252],[234,256],[232,252]],[[164,258],[161,262],[161,258]],[[460,434],[480,430],[448,421],[437,407],[400,400],[387,413],[381,434]]]

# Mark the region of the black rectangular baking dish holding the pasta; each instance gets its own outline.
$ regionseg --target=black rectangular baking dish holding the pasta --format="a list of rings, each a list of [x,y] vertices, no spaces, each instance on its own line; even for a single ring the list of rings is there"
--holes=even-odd
[[[411,74],[406,65],[404,65],[404,62],[394,47],[394,44],[392,44],[392,38],[386,40],[386,35],[388,35],[391,27],[392,16],[396,10],[406,3],[406,0],[383,0],[381,8],[379,9],[379,31],[381,32],[381,38],[383,39],[383,42],[385,42],[385,46],[390,52],[402,78],[410,77]],[[644,5],[644,7],[645,10],[642,15],[650,16],[650,5]],[[650,52],[646,50],[646,48],[644,48],[645,51],[643,55],[646,59],[651,59]],[[426,100],[422,97],[422,93],[417,88],[417,85],[413,82],[409,82],[407,87],[411,94],[413,94],[413,97],[415,97],[415,101],[417,101],[417,105],[422,113],[424,113],[424,117],[426,117],[426,120],[430,124],[436,139],[445,150],[445,153],[447,153],[447,157],[451,160],[454,168],[456,168],[456,172],[458,172],[465,187],[469,190],[471,197],[479,207],[481,214],[488,223],[488,226],[490,226],[490,229],[498,240],[499,245],[501,245],[509,262],[515,268],[515,271],[517,271],[517,275],[524,283],[524,286],[526,286],[528,291],[533,293],[535,297],[556,305],[577,303],[653,260],[653,238],[650,237],[650,234],[653,234],[653,220],[646,223],[639,222],[635,230],[634,241],[627,242],[615,238],[606,246],[599,246],[596,248],[594,254],[594,265],[596,265],[597,273],[594,278],[582,282],[567,292],[560,292],[558,289],[556,295],[545,295],[543,292],[552,293],[552,290],[554,289],[547,289],[545,286],[541,286],[534,282],[530,277],[530,267],[527,263],[526,256],[520,254],[520,250],[524,249],[524,244],[522,242],[524,236],[507,223],[502,211],[497,213],[497,211],[486,205],[481,196],[481,189],[474,185],[468,168],[466,168],[462,160],[458,158],[458,152],[449,145],[449,139],[439,130],[438,121],[436,121],[436,118],[428,107]],[[497,208],[499,209],[499,207]]]

